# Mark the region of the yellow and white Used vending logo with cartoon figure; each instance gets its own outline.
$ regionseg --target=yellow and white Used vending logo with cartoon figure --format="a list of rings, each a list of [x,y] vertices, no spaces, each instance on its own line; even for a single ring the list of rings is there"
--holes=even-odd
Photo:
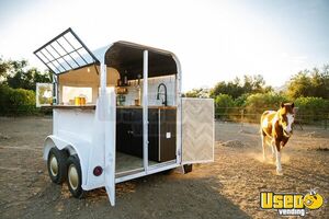
[[[260,193],[262,209],[276,209],[279,216],[305,216],[309,210],[324,206],[324,197],[314,189],[304,194]]]

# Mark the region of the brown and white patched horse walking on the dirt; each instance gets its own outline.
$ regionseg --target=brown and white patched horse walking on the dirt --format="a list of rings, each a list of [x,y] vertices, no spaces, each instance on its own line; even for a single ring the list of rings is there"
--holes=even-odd
[[[268,143],[272,147],[273,159],[276,159],[277,174],[282,174],[281,151],[293,134],[294,119],[294,103],[282,103],[279,111],[265,111],[261,117],[263,159],[265,160]]]

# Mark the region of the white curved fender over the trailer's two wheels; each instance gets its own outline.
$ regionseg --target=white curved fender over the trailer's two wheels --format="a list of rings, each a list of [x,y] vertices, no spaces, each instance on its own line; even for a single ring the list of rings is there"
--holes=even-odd
[[[66,149],[68,150],[70,155],[77,154],[80,160],[82,187],[84,187],[84,185],[87,184],[88,175],[88,154],[90,150],[89,145],[89,142],[86,142],[83,140],[77,141],[70,139],[70,141],[67,141],[53,135],[48,136],[45,140],[44,160],[48,159],[48,153],[53,147],[58,148],[58,150]],[[79,146],[79,148],[77,146]]]

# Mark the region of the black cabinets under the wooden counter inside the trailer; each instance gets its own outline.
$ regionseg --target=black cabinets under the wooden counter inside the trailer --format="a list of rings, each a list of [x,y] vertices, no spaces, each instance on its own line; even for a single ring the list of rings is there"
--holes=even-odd
[[[163,162],[175,159],[174,108],[148,110],[148,158]],[[117,108],[116,150],[143,158],[143,110]]]

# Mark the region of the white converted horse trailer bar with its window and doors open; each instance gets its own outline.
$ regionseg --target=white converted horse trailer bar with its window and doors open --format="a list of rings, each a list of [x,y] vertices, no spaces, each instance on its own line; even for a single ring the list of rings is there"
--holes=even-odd
[[[91,51],[71,28],[34,54],[54,76],[36,92],[54,101],[43,158],[72,196],[105,187],[114,206],[116,183],[214,161],[214,101],[182,97],[174,54],[128,42]]]

